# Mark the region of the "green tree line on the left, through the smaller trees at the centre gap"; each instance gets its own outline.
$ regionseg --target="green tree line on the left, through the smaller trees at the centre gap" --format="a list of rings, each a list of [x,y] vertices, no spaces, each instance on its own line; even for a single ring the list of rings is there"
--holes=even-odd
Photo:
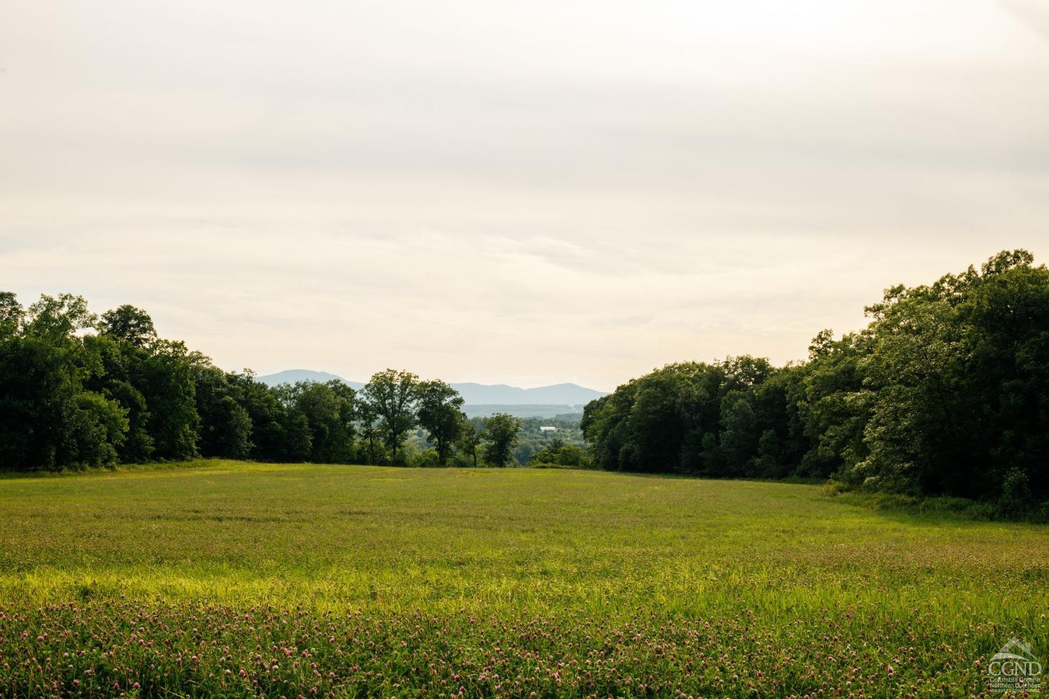
[[[338,380],[270,387],[159,337],[134,306],[99,318],[82,297],[23,308],[0,292],[0,469],[197,456],[405,464],[418,428],[432,444],[413,457],[423,463],[510,464],[521,421],[468,419],[463,402],[442,380],[393,369],[359,392]]]

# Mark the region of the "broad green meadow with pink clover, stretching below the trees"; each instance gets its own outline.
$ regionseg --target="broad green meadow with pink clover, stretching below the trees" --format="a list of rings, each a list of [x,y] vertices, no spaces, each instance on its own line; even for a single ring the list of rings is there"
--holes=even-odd
[[[969,696],[1049,527],[818,486],[208,461],[0,478],[0,696]]]

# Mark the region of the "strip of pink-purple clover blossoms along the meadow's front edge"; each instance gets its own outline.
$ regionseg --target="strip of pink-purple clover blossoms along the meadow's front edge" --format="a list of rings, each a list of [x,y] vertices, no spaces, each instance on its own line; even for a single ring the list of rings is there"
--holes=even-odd
[[[873,609],[759,618],[0,607],[0,696],[885,697],[983,694],[1006,633]],[[863,618],[863,620],[860,620]]]

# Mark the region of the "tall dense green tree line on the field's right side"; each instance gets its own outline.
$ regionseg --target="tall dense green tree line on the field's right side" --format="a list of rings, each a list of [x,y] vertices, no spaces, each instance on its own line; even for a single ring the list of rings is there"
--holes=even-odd
[[[807,362],[752,356],[657,369],[586,406],[600,468],[833,479],[992,500],[1049,497],[1049,270],[1002,252],[887,289],[858,332]]]

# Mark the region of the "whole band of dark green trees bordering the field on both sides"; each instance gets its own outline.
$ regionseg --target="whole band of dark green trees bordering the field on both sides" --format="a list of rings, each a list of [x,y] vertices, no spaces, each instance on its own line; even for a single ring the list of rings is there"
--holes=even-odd
[[[0,293],[0,468],[196,456],[407,465],[555,464],[993,500],[1049,497],[1049,270],[1024,250],[896,286],[870,324],[819,332],[809,359],[658,369],[581,423],[469,418],[441,380],[377,373],[267,387],[157,336],[133,306]],[[557,427],[556,433],[540,425]],[[583,439],[586,449],[583,449]]]

